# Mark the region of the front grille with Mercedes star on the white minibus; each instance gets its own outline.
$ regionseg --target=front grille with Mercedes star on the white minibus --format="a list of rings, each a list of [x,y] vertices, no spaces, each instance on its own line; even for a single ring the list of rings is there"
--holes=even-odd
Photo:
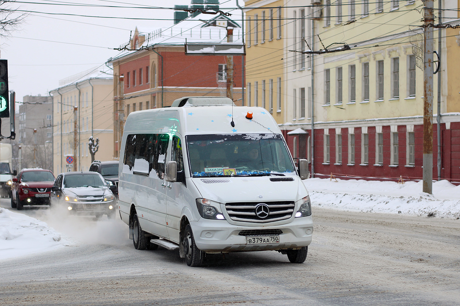
[[[225,209],[233,221],[268,223],[289,219],[294,212],[294,202],[226,203]]]

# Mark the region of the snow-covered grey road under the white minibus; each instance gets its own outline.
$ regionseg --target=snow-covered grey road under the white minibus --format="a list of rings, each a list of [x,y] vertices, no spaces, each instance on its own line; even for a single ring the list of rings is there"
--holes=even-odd
[[[460,220],[314,207],[304,264],[266,251],[192,268],[178,252],[135,250],[120,220],[24,212],[79,242],[0,261],[2,305],[460,305]]]

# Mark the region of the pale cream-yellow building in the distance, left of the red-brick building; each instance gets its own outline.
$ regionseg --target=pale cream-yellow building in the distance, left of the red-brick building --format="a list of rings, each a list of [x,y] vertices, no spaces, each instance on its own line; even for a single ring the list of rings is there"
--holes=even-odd
[[[113,78],[87,78],[50,92],[53,99],[55,175],[74,171],[74,167],[66,167],[68,156],[72,156],[77,170],[89,169],[91,154],[88,139],[91,136],[99,139],[95,159],[113,160],[112,90]]]

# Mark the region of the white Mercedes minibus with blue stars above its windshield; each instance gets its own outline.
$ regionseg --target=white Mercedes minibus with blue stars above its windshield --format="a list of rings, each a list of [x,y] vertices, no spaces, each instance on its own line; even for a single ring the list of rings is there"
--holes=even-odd
[[[257,250],[303,263],[313,232],[308,176],[264,108],[184,97],[127,117],[120,216],[136,249],[179,249],[189,266]]]

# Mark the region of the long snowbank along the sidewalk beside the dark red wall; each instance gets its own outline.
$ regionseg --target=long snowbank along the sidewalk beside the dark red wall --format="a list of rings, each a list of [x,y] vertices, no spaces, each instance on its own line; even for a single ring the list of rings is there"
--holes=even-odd
[[[402,213],[459,218],[460,186],[447,180],[433,182],[433,195],[422,192],[422,182],[380,182],[309,178],[303,181],[312,206],[345,211]]]

